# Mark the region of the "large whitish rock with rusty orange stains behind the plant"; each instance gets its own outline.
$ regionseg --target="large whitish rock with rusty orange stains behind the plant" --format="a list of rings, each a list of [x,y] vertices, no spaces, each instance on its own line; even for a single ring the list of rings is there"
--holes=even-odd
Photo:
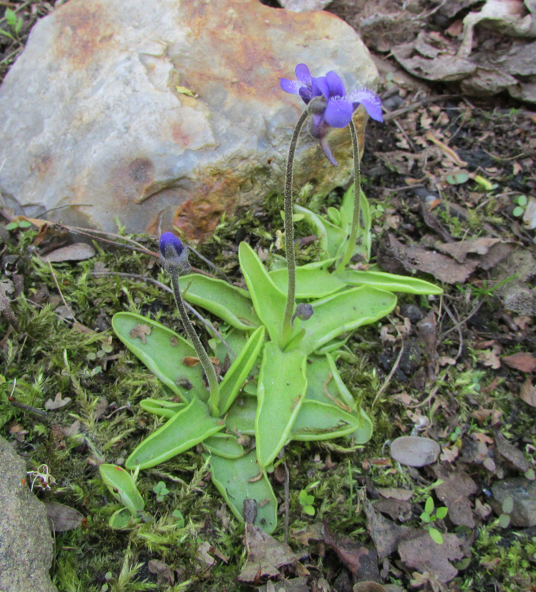
[[[0,87],[4,200],[17,214],[105,230],[118,216],[128,231],[177,224],[201,238],[223,211],[282,190],[303,103],[279,78],[300,62],[313,76],[337,70],[348,88],[375,85],[368,50],[327,12],[70,0],[35,25]],[[363,130],[362,108],[355,122]],[[338,169],[303,136],[296,184],[349,181],[348,131],[330,144]]]

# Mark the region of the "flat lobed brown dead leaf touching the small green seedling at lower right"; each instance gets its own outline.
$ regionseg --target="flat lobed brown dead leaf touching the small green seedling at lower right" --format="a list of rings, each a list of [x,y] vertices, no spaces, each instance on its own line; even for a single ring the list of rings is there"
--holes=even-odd
[[[462,541],[456,535],[443,535],[443,544],[438,545],[424,530],[417,538],[404,540],[398,545],[398,553],[402,563],[411,570],[421,574],[424,571],[433,574],[437,581],[446,584],[456,577],[458,570],[450,560],[461,559],[463,551],[460,549]]]

